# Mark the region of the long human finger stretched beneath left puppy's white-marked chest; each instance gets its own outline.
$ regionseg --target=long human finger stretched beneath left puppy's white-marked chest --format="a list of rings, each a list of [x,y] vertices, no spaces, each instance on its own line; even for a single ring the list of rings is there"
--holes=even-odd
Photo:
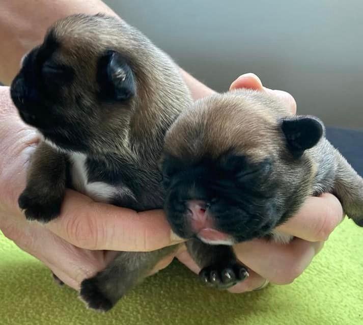
[[[45,227],[90,250],[153,251],[182,241],[171,231],[162,210],[136,212],[94,202],[71,190],[66,192],[61,215]]]

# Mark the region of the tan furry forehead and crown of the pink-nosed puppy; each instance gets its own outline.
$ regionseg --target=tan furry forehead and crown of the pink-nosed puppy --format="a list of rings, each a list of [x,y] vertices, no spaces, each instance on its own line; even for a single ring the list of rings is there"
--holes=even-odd
[[[281,137],[275,141],[277,117],[287,112],[282,103],[276,105],[257,92],[211,96],[197,101],[176,120],[167,132],[164,151],[196,161],[205,155],[217,158],[235,148],[236,153],[260,160],[282,147]]]

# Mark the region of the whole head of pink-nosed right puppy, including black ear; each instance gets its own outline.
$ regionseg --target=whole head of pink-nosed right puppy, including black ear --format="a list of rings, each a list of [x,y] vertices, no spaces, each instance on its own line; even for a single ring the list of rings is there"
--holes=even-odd
[[[180,237],[232,245],[268,236],[296,211],[313,174],[303,152],[323,129],[309,117],[275,119],[268,106],[261,113],[254,97],[216,98],[182,113],[166,134],[164,207]]]

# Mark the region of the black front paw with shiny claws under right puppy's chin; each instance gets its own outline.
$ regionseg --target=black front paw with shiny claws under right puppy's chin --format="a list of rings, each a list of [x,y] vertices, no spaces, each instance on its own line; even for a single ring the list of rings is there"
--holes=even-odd
[[[199,276],[209,287],[228,289],[248,278],[248,272],[242,264],[230,262],[207,266],[201,270]]]

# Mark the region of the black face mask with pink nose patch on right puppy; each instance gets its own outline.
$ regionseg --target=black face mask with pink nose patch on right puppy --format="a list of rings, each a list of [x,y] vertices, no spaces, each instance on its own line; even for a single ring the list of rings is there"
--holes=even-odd
[[[187,166],[174,157],[164,160],[165,209],[181,237],[229,244],[267,234],[281,215],[273,162],[249,162],[226,153]]]

